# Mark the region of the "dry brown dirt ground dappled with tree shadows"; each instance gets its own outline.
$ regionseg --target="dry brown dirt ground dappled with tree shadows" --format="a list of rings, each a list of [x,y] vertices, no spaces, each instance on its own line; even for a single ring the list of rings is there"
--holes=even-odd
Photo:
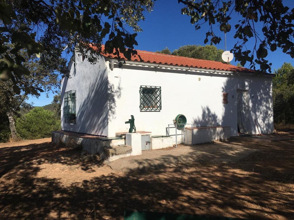
[[[144,151],[108,164],[50,138],[0,144],[0,219],[123,219],[146,210],[294,219],[294,131]]]

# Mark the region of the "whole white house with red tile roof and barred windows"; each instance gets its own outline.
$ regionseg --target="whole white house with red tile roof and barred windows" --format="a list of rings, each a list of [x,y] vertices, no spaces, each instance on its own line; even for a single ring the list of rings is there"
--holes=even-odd
[[[101,55],[95,65],[82,57],[69,63],[71,77],[61,86],[62,130],[114,137],[128,131],[125,121],[133,115],[137,131],[172,135],[175,141],[175,128],[168,134],[168,124],[183,114],[195,128],[230,127],[230,136],[238,135],[238,125],[243,133],[273,132],[273,74],[137,51],[141,60],[133,56],[121,68],[113,54]]]

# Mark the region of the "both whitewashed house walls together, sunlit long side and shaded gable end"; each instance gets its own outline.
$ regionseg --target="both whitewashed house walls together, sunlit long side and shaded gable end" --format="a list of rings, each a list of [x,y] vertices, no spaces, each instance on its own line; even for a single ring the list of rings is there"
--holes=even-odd
[[[184,114],[193,126],[231,126],[231,136],[236,136],[237,89],[245,89],[250,95],[251,133],[258,133],[254,119],[261,133],[273,132],[271,78],[133,65],[114,67],[110,70],[102,57],[95,65],[77,60],[75,71],[72,63],[69,65],[71,78],[62,81],[61,110],[64,92],[76,90],[77,123],[64,124],[61,111],[61,129],[113,137],[128,131],[125,121],[134,115],[137,131],[166,135],[168,124],[176,115]],[[141,85],[161,86],[160,112],[140,112]],[[223,104],[224,92],[229,93],[228,104]],[[175,129],[171,129],[173,134]]]

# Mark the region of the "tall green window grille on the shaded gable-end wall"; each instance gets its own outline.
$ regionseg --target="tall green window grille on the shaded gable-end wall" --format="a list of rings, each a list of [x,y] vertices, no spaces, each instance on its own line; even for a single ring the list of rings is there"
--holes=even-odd
[[[64,123],[76,123],[76,90],[64,93]]]

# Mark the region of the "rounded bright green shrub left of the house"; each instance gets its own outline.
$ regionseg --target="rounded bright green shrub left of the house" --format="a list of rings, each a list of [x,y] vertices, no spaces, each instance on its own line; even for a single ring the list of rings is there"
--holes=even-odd
[[[59,129],[60,120],[42,107],[36,107],[16,120],[16,130],[25,139],[47,138],[51,131]]]

